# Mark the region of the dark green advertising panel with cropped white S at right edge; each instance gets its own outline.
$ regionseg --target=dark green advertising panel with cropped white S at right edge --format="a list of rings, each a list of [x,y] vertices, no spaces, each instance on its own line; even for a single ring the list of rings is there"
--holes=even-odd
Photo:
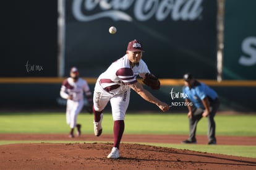
[[[256,1],[224,5],[223,79],[256,80]]]

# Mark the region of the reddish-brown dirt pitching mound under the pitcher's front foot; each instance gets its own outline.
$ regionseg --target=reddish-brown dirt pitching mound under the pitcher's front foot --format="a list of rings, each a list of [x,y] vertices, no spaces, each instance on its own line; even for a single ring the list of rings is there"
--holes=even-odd
[[[0,145],[0,169],[256,169],[255,158],[121,143],[120,158],[106,156],[113,143]]]

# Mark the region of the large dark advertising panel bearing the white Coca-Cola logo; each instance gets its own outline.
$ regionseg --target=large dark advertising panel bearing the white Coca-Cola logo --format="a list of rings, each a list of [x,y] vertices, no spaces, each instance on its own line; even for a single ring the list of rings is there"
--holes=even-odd
[[[98,77],[136,39],[156,76],[181,79],[189,71],[216,79],[216,1],[72,0],[65,10],[65,75],[77,66]]]

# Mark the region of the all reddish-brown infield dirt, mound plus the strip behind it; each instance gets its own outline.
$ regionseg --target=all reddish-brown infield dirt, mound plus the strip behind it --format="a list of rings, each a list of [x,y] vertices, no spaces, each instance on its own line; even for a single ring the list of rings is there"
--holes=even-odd
[[[112,135],[95,137],[83,134],[81,137],[70,139],[63,134],[1,134],[0,140],[42,142],[0,145],[0,169],[256,169],[256,158],[139,144],[139,142],[181,143],[181,140],[186,138],[187,136],[184,135],[124,134],[120,146],[121,157],[108,159],[106,156],[113,145]],[[256,145],[256,137],[217,137],[217,139],[220,145]],[[47,140],[72,142],[43,142]],[[205,136],[198,136],[197,140],[198,144],[207,143]]]

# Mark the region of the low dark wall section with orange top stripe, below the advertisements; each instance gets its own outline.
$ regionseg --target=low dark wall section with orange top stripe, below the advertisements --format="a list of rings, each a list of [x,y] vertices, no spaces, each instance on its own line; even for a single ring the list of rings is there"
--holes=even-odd
[[[90,88],[93,90],[96,79],[86,77],[84,79],[88,80]],[[0,78],[0,88],[2,90],[0,108],[2,111],[16,109],[41,111],[58,109],[64,111],[66,100],[59,96],[63,80],[59,78]],[[221,100],[221,111],[256,111],[253,98],[256,94],[256,81],[200,81],[207,83],[218,92]],[[160,90],[145,88],[166,103],[173,104],[170,112],[186,112],[187,108],[185,106],[179,106],[184,101],[181,95],[183,81],[181,79],[161,79],[161,83]],[[173,98],[171,92],[173,92]],[[85,105],[87,105],[86,100]],[[106,109],[110,110],[109,104]],[[159,109],[132,91],[129,111],[159,111]]]

